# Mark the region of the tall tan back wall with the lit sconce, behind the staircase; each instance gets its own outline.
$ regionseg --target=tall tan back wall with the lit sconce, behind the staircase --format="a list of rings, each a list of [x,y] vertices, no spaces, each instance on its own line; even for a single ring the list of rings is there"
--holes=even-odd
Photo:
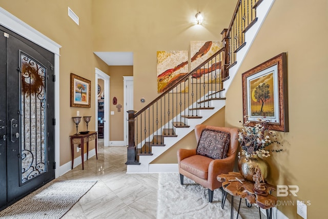
[[[136,111],[158,95],[156,51],[189,50],[190,41],[221,41],[220,32],[228,28],[236,6],[236,1],[216,0],[94,3],[94,50],[133,52]],[[204,16],[203,26],[194,25],[198,11]],[[139,101],[142,97],[145,104]]]

